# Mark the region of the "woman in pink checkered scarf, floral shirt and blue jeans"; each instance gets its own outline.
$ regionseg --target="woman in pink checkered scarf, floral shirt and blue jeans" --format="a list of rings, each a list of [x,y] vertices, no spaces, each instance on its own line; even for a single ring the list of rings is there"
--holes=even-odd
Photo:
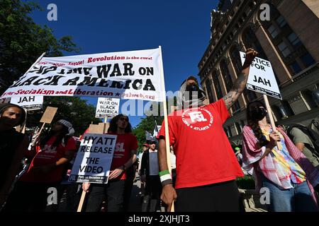
[[[262,102],[247,105],[243,167],[254,168],[257,189],[269,189],[269,211],[318,211],[319,172],[279,127],[273,131]]]

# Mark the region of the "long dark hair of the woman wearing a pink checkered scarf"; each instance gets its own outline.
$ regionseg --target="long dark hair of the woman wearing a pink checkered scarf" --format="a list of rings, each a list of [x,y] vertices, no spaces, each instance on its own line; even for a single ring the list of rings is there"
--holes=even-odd
[[[262,102],[254,101],[254,102],[250,102],[246,108],[248,125],[250,126],[250,128],[252,128],[252,131],[254,132],[254,136],[256,136],[257,138],[257,141],[258,141],[257,145],[259,145],[259,147],[265,146],[269,143],[269,141],[267,141],[267,139],[262,134],[262,129],[260,128],[258,124],[258,120],[252,117],[252,109],[255,109],[261,106],[266,109],[266,107],[264,106]]]

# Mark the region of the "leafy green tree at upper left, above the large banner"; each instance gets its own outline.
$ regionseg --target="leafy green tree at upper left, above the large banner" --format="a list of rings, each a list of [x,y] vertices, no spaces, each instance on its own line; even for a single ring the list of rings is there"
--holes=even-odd
[[[79,52],[72,37],[59,40],[46,25],[34,23],[29,13],[40,6],[20,0],[0,1],[0,93],[21,77],[43,52],[46,57]]]

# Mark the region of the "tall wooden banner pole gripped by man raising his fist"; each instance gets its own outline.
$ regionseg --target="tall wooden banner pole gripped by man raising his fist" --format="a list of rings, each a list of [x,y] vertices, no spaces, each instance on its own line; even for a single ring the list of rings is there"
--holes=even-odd
[[[159,46],[159,59],[161,59],[159,67],[163,69],[163,60],[162,60],[162,47]],[[166,103],[166,91],[165,91],[165,83],[164,83],[164,71],[160,70],[161,78],[162,78],[162,98],[163,98],[163,110],[164,110],[164,126],[165,126],[165,146],[166,146],[166,159],[167,159],[167,167],[169,169],[169,173],[172,174],[172,166],[171,166],[171,152],[169,148],[169,130],[168,130],[168,119],[167,119],[167,103]],[[174,212],[174,201],[172,203],[171,212]]]

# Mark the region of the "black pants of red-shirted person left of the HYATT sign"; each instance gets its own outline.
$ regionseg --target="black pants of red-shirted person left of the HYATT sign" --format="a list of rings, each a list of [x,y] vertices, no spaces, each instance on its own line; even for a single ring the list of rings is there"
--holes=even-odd
[[[47,193],[47,189],[54,187],[57,189],[60,182],[52,184],[40,184],[31,182],[17,182],[13,191],[9,195],[4,212],[44,212],[47,207],[47,198],[52,195]],[[58,194],[56,194],[57,196]],[[58,199],[58,197],[56,197]]]

